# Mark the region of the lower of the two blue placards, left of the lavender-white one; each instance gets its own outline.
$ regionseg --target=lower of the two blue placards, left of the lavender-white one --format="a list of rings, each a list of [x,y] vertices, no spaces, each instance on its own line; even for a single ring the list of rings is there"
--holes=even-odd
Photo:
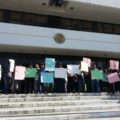
[[[41,82],[42,83],[54,83],[53,72],[41,72]]]

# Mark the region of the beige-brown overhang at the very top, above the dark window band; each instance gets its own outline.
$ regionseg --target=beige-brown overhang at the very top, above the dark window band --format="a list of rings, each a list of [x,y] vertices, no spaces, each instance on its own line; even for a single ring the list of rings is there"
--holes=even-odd
[[[64,0],[61,7],[50,0],[1,0],[0,9],[120,24],[119,0]]]

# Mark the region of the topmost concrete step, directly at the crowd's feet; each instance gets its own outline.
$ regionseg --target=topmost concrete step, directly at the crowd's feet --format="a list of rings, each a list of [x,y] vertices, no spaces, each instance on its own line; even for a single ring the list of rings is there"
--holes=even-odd
[[[120,96],[114,95],[114,96],[6,96],[0,98],[1,102],[24,102],[24,101],[57,101],[57,100],[120,100]]]

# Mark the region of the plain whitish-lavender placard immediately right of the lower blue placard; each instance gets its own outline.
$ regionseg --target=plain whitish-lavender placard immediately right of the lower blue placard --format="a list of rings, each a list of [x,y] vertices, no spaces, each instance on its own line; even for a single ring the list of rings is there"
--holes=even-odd
[[[65,68],[55,68],[55,78],[66,79],[67,69]]]

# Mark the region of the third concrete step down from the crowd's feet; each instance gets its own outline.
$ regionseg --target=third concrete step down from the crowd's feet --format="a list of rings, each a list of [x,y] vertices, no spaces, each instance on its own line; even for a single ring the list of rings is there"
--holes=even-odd
[[[107,104],[107,105],[77,105],[77,106],[43,106],[43,107],[27,107],[27,108],[1,108],[0,116],[19,116],[19,115],[43,115],[54,113],[69,113],[85,111],[101,111],[101,110],[115,110],[120,111],[120,104]],[[119,114],[120,115],[120,114]]]

